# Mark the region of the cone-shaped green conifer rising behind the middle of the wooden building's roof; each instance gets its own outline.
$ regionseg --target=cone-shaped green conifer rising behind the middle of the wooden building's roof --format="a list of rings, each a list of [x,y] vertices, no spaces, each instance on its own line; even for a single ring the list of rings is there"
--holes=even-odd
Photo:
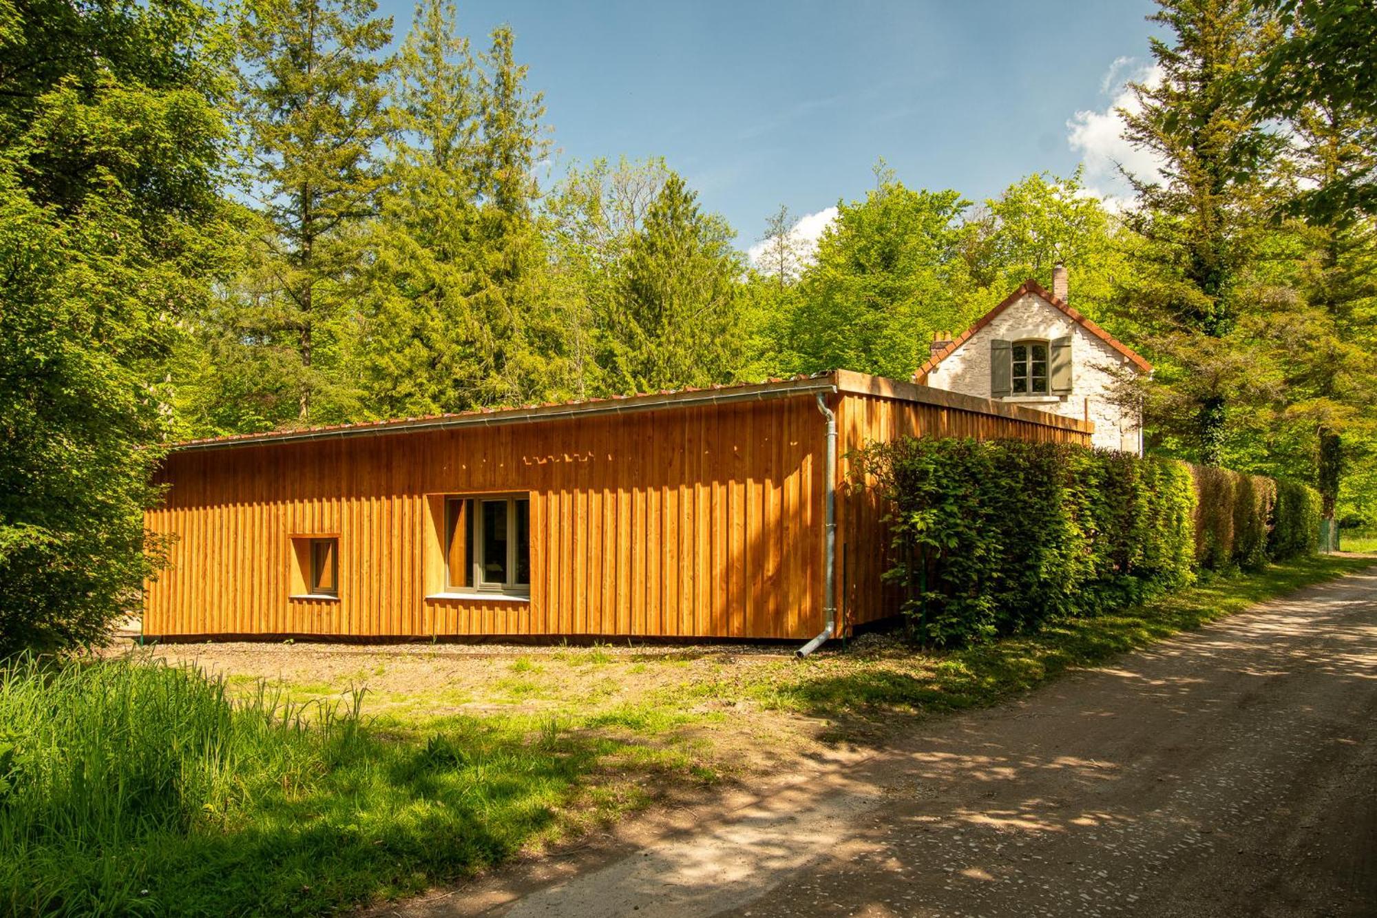
[[[631,241],[603,336],[614,390],[730,382],[742,363],[731,230],[671,174]]]

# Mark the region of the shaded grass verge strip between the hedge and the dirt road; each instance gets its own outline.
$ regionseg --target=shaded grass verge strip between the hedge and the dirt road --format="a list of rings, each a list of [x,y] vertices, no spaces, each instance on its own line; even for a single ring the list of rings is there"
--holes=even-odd
[[[749,686],[761,704],[837,721],[837,735],[894,714],[987,707],[1036,688],[1069,667],[1102,663],[1179,631],[1197,629],[1254,602],[1373,567],[1370,558],[1312,557],[1250,576],[1216,576],[1111,615],[1048,622],[1034,634],[916,653],[818,655],[792,674]],[[852,737],[855,737],[852,736]]]

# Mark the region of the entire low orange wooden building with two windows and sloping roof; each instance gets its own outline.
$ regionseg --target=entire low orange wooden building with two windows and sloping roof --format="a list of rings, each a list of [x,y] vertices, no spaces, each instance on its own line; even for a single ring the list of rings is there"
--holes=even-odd
[[[845,487],[850,451],[1092,430],[837,371],[185,442],[147,518],[174,540],[143,630],[806,640],[834,620],[845,634],[896,608],[883,509]]]

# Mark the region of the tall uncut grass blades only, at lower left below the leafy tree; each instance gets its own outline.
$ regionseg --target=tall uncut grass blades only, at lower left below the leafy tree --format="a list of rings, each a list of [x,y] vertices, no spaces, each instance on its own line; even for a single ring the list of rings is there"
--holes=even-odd
[[[328,771],[358,743],[361,702],[293,704],[260,684],[235,707],[196,670],[12,662],[0,670],[0,908],[156,910],[132,848],[233,830],[263,794]]]

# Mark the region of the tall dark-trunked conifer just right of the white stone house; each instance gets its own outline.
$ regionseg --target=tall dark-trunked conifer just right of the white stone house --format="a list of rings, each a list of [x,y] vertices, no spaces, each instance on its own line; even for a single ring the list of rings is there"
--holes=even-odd
[[[1259,379],[1239,318],[1265,225],[1265,179],[1275,138],[1234,87],[1250,80],[1275,37],[1248,0],[1158,0],[1151,39],[1158,83],[1133,84],[1139,112],[1125,136],[1155,153],[1162,179],[1131,176],[1142,237],[1125,278],[1124,309],[1153,331],[1158,360],[1155,425],[1190,456],[1217,465],[1231,400]]]

